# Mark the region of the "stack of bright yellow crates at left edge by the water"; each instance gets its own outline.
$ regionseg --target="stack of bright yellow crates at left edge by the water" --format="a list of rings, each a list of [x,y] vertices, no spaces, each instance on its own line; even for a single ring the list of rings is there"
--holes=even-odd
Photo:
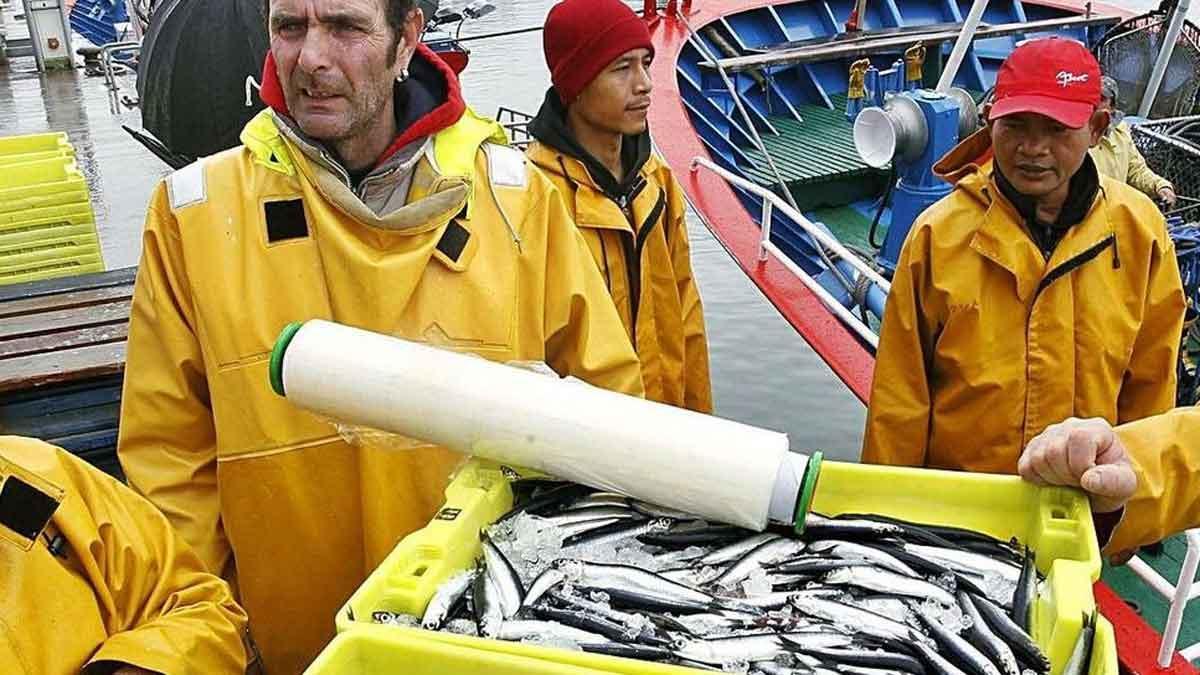
[[[0,285],[103,270],[67,135],[0,137]]]

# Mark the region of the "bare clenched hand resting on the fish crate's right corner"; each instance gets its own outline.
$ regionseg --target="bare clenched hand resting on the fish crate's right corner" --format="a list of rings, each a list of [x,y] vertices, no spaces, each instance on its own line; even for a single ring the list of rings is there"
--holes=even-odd
[[[1124,446],[1103,419],[1068,419],[1030,441],[1016,464],[1038,485],[1082,488],[1096,513],[1111,513],[1138,489]]]

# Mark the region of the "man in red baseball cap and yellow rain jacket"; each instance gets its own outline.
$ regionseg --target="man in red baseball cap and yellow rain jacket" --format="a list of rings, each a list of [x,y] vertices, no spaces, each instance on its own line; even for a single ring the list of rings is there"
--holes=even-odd
[[[1073,41],[1018,47],[990,126],[936,167],[954,191],[901,251],[864,461],[1015,473],[1051,424],[1174,407],[1175,250],[1154,204],[1088,157],[1108,123],[1098,80]]]

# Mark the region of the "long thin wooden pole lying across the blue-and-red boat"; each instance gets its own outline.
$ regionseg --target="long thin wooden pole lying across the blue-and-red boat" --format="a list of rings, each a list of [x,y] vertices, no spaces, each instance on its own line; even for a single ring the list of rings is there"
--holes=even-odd
[[[989,37],[1001,37],[1020,32],[1050,32],[1070,26],[1115,24],[1117,23],[1117,19],[1118,17],[1115,16],[1064,17],[1061,19],[1044,19],[1038,22],[980,25],[979,30],[976,31],[974,40],[986,40]],[[786,66],[815,61],[828,61],[833,59],[854,59],[881,52],[904,50],[912,47],[917,42],[923,44],[949,42],[952,40],[956,40],[959,37],[959,32],[960,30],[955,28],[953,30],[943,29],[913,31],[900,35],[866,34],[862,37],[848,40],[845,37],[835,37],[821,44],[790,49],[785,48],[776,52],[768,52],[766,54],[750,54],[748,56],[718,59],[716,66],[725,68],[726,72],[743,72],[762,68],[764,66]],[[703,67],[714,66],[709,61],[701,61],[700,65]]]

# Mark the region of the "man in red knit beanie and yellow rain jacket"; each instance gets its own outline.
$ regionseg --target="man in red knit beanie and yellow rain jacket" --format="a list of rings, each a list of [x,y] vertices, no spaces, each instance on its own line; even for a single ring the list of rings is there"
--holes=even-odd
[[[646,127],[646,22],[619,0],[565,0],[542,38],[553,86],[529,124],[528,156],[563,193],[604,274],[647,398],[712,412],[683,191]]]

